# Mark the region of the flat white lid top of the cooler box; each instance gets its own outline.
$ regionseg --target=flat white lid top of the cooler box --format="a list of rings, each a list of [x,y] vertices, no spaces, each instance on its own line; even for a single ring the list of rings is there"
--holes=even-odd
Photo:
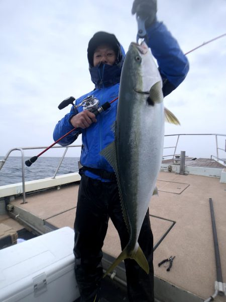
[[[67,258],[71,261],[73,247],[74,230],[65,227],[0,250],[0,291],[40,270],[48,273],[57,269]]]

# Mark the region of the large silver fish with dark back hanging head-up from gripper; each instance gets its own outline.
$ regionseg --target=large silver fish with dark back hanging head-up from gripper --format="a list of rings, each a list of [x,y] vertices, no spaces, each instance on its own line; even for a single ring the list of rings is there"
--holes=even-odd
[[[105,275],[126,258],[136,260],[149,273],[138,237],[156,188],[164,121],[162,80],[152,53],[145,42],[131,43],[121,75],[115,141],[101,152],[117,176],[130,240]]]

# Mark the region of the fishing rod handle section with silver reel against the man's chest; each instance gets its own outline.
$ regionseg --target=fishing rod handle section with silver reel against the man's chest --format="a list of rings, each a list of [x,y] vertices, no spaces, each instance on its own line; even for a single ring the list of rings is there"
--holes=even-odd
[[[110,108],[110,105],[115,102],[116,100],[118,100],[119,97],[115,98],[114,100],[110,101],[110,102],[105,102],[103,105],[98,106],[99,101],[94,98],[93,96],[88,96],[86,97],[81,103],[79,103],[78,105],[74,105],[73,101],[75,101],[74,97],[69,97],[65,100],[63,100],[63,102],[60,103],[60,105],[58,106],[58,108],[61,110],[63,108],[65,108],[66,106],[68,106],[69,104],[72,104],[74,108],[78,108],[80,106],[83,106],[84,110],[89,110],[90,112],[94,113],[95,116],[97,116],[98,114],[100,114],[101,112],[107,110],[108,108]],[[50,146],[48,146],[45,150],[43,150],[41,153],[39,153],[36,156],[33,156],[32,158],[30,158],[29,160],[27,160],[25,162],[25,165],[30,167],[33,163],[35,163],[37,161],[37,159],[46,151],[48,151],[50,148],[52,148],[52,146],[54,146],[56,143],[58,143],[61,139],[63,139],[64,137],[66,137],[68,134],[70,134],[71,132],[75,131],[77,128],[73,128],[71,129],[69,132],[67,132],[66,134],[64,134],[63,136],[61,136],[60,138],[58,138],[56,141],[54,141],[54,143],[52,143]]]

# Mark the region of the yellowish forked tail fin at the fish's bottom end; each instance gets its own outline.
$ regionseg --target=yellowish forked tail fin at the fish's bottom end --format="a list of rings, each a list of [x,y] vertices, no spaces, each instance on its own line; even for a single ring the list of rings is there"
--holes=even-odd
[[[138,247],[136,253],[133,253],[132,255],[129,255],[127,252],[127,247],[122,251],[122,253],[119,255],[119,257],[111,264],[111,266],[107,269],[107,271],[105,272],[105,274],[103,275],[103,278],[109,274],[112,270],[114,270],[114,268],[120,264],[120,262],[122,262],[123,260],[130,258],[130,259],[134,259],[141,268],[143,268],[143,270],[149,274],[149,264],[148,261],[142,251],[142,249],[140,248],[140,246]]]

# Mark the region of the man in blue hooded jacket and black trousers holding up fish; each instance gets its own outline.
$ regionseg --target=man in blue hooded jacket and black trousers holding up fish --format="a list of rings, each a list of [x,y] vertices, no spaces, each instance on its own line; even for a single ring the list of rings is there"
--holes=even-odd
[[[146,19],[146,43],[158,61],[163,94],[166,96],[184,80],[189,68],[188,61],[165,25],[157,21],[155,0],[135,0],[132,13]],[[88,43],[87,55],[95,89],[77,99],[76,104],[80,104],[88,96],[95,97],[100,102],[99,105],[114,100],[119,95],[125,57],[121,44],[115,35],[97,32]],[[99,299],[101,248],[109,217],[119,233],[122,249],[129,241],[114,171],[100,156],[100,151],[114,140],[111,128],[116,114],[117,101],[97,116],[83,110],[82,106],[72,108],[54,130],[54,139],[57,140],[73,127],[77,128],[60,141],[61,145],[72,143],[82,133],[80,163],[83,168],[74,224],[75,274],[82,302]],[[130,301],[154,302],[153,235],[149,212],[142,225],[139,245],[148,260],[150,273],[146,274],[134,260],[125,260],[128,297]]]

